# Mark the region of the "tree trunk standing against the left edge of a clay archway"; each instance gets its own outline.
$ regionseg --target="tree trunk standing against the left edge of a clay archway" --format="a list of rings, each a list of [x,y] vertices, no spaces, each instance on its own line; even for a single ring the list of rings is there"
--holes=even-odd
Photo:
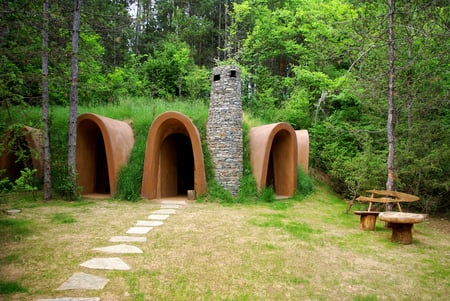
[[[81,0],[74,0],[73,30],[72,30],[72,66],[70,72],[70,111],[69,111],[69,152],[68,172],[71,181],[71,198],[77,196],[76,143],[78,118],[78,40],[80,38]]]

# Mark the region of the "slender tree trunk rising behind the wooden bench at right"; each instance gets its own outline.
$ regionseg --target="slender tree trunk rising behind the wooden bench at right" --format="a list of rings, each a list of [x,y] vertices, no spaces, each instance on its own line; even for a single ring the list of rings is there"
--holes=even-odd
[[[388,85],[388,122],[387,138],[389,145],[387,161],[387,182],[386,190],[395,189],[395,104],[394,104],[394,83],[395,83],[395,48],[394,48],[394,0],[389,0],[389,85]],[[387,210],[392,210],[392,204],[387,204]]]

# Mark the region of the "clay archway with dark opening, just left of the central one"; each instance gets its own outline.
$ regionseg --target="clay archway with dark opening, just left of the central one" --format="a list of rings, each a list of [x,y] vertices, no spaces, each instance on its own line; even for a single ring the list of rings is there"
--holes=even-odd
[[[115,194],[117,176],[133,145],[133,129],[128,123],[92,113],[80,115],[76,164],[81,194]]]

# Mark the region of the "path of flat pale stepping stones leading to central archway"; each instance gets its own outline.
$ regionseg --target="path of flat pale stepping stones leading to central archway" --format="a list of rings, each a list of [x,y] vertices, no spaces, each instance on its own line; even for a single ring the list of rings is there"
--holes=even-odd
[[[179,200],[164,200],[161,201],[160,209],[150,212],[148,220],[138,220],[136,225],[129,228],[127,234],[145,235],[150,232],[153,227],[158,227],[164,224],[164,221],[172,214],[176,213],[175,209],[179,209],[186,205],[185,201]],[[145,236],[113,236],[109,239],[110,242],[123,243],[143,243],[147,241]],[[140,254],[143,251],[133,245],[118,244],[106,247],[94,248],[94,251],[108,254]],[[80,266],[93,270],[121,270],[127,271],[131,267],[118,257],[108,258],[92,258],[80,264]],[[74,273],[66,282],[61,284],[56,290],[99,290],[103,289],[108,283],[108,279],[91,275],[87,273]],[[63,297],[53,299],[38,299],[37,301],[100,301],[100,298],[75,298]]]

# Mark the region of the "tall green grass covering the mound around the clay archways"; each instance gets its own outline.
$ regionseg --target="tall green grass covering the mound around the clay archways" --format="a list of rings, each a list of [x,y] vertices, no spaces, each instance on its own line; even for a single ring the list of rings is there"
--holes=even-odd
[[[53,106],[50,112],[50,140],[53,188],[60,195],[64,195],[69,185],[67,178],[67,128],[68,107]],[[205,172],[208,180],[208,193],[205,199],[220,200],[221,202],[255,202],[261,198],[267,202],[274,200],[270,190],[258,191],[256,181],[252,174],[249,151],[250,127],[259,126],[263,122],[254,118],[249,113],[244,113],[243,135],[244,135],[244,171],[238,196],[233,198],[214,177],[213,163],[206,142],[206,124],[208,120],[207,101],[195,100],[163,100],[148,97],[123,97],[119,101],[99,106],[79,106],[79,114],[94,113],[105,117],[124,120],[131,124],[135,135],[135,144],[130,154],[127,165],[120,171],[117,183],[118,199],[137,201],[140,199],[142,173],[148,131],[155,118],[168,111],[177,111],[188,116],[197,127],[202,139],[203,155],[205,160]],[[9,115],[12,118],[9,118]],[[0,130],[10,123],[41,127],[41,109],[39,107],[20,106],[11,107],[9,112],[0,111]],[[311,179],[299,169],[298,195],[302,198],[312,191]]]

